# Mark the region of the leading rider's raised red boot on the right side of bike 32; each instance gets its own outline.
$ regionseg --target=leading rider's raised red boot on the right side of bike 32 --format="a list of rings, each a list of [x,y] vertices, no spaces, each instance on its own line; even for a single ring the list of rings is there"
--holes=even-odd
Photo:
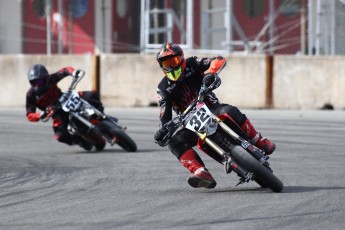
[[[276,145],[273,142],[263,137],[261,133],[255,130],[248,118],[244,121],[241,129],[247,134],[250,143],[263,150],[267,155],[272,154],[276,149]]]

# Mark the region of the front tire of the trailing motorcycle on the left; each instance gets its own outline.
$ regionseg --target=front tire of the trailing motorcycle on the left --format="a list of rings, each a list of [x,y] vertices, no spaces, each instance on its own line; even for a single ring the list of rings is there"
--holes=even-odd
[[[99,127],[102,132],[115,138],[116,143],[127,152],[137,151],[136,143],[127,135],[127,133],[125,133],[121,127],[116,126],[113,122],[108,120],[103,120]]]

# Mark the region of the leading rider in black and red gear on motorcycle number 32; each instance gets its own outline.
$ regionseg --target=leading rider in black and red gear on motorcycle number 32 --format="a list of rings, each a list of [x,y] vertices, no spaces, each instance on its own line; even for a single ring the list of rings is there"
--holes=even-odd
[[[157,53],[157,61],[164,73],[158,84],[157,94],[160,106],[160,128],[172,119],[172,111],[182,113],[191,101],[198,96],[200,88],[209,86],[214,81],[220,84],[219,72],[226,65],[226,58],[216,56],[211,58],[185,59],[180,46],[173,43],[164,43]],[[276,146],[270,140],[257,132],[249,119],[237,107],[220,103],[216,95],[211,92],[204,102],[216,115],[227,113],[240,128],[247,134],[252,144],[272,154]],[[156,142],[163,146],[163,137],[167,130],[159,129],[154,135]],[[184,128],[175,133],[170,139],[169,149],[193,175],[188,178],[190,186],[198,188],[214,188],[216,181],[205,167],[204,162],[193,149],[198,137]]]

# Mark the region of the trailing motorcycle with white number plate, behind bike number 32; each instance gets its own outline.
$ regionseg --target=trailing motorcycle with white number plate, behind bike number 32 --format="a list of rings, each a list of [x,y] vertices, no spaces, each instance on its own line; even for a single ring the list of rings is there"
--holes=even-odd
[[[103,150],[108,142],[111,146],[118,144],[128,152],[135,152],[137,145],[125,132],[126,128],[120,126],[116,118],[106,115],[80,97],[75,90],[84,75],[83,70],[73,73],[68,90],[63,92],[55,105],[44,111],[41,120],[49,120],[54,111],[62,109],[69,114],[68,131],[89,142],[90,146],[94,145],[97,150]]]

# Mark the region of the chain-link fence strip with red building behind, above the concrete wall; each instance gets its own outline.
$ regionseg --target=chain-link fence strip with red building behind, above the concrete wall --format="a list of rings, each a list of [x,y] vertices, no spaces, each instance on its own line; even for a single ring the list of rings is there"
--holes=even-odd
[[[0,53],[345,54],[345,0],[2,0]],[[9,20],[10,19],[10,20]]]

